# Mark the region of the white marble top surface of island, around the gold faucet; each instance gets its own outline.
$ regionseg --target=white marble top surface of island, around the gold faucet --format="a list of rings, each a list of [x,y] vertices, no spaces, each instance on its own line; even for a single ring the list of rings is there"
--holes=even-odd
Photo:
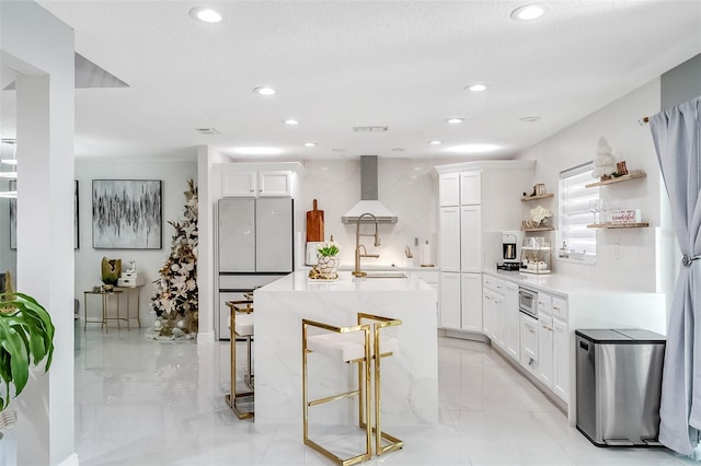
[[[367,269],[370,273],[371,270]],[[391,269],[402,271],[400,269]],[[381,273],[382,270],[374,269]],[[356,278],[350,271],[340,271],[338,280],[311,280],[308,271],[299,270],[288,276],[275,280],[263,288],[256,290],[279,292],[279,291],[433,291],[435,289],[421,279],[412,278]]]

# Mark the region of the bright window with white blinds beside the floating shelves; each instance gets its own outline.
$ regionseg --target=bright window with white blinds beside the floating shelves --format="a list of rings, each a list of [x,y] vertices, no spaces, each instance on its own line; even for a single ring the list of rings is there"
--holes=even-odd
[[[596,229],[587,229],[595,223],[595,201],[599,198],[599,187],[585,188],[594,183],[594,162],[575,166],[560,173],[559,257],[587,264],[596,263]]]

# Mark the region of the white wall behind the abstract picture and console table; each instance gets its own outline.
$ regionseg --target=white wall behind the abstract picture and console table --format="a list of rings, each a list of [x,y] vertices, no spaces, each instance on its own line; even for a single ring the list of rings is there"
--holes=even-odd
[[[123,269],[128,267],[129,260],[136,260],[137,271],[146,279],[146,286],[140,292],[141,326],[150,327],[154,315],[151,314],[151,295],[153,280],[159,277],[159,269],[165,264],[171,252],[171,238],[174,229],[169,220],[177,220],[185,205],[184,193],[187,180],[197,183],[197,163],[170,161],[76,161],[76,179],[79,187],[79,224],[80,247],[76,251],[76,298],[80,300],[81,318],[84,312],[83,291],[93,286],[102,284],[102,257],[122,259]],[[92,180],[93,179],[161,179],[162,183],[162,249],[95,249],[92,247]],[[91,318],[100,312],[97,298],[89,298]],[[133,306],[136,302],[133,302]],[[134,307],[133,307],[134,308]],[[134,321],[136,324],[136,321]],[[95,326],[97,324],[89,324]],[[111,323],[114,325],[114,323]],[[124,330],[123,330],[124,331]]]

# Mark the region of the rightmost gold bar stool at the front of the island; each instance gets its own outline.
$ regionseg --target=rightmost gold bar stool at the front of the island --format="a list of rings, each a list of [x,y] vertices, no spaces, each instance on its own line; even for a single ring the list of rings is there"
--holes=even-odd
[[[383,317],[379,315],[371,315],[365,313],[358,313],[358,325],[361,325],[364,322],[371,321],[372,328],[372,362],[374,362],[374,415],[375,415],[375,426],[372,427],[372,431],[375,433],[375,452],[378,456],[383,455],[386,453],[394,452],[404,446],[404,441],[391,435],[381,428],[381,404],[380,404],[380,382],[381,382],[381,360],[382,358],[387,358],[393,354],[393,352],[399,348],[399,340],[389,336],[381,336],[381,330],[389,327],[395,327],[402,325],[402,321],[391,317]],[[359,374],[358,374],[359,376]],[[382,440],[387,441],[388,444],[382,446]]]

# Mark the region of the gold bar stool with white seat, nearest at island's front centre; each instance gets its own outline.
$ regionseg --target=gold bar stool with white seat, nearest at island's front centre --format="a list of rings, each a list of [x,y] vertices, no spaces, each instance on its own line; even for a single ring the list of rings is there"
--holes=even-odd
[[[325,330],[319,335],[309,335],[310,327]],[[358,387],[350,392],[326,396],[309,400],[308,382],[309,373],[307,359],[309,353],[318,352],[338,361],[358,364]],[[372,457],[372,443],[370,439],[370,423],[363,422],[370,416],[370,326],[356,325],[349,327],[335,327],[321,322],[302,319],[302,403],[303,403],[303,440],[324,456],[333,459],[341,466],[350,466]],[[342,458],[330,450],[321,446],[309,438],[309,408],[324,403],[336,401],[344,398],[358,396],[358,421],[365,430],[365,452],[348,458]]]

